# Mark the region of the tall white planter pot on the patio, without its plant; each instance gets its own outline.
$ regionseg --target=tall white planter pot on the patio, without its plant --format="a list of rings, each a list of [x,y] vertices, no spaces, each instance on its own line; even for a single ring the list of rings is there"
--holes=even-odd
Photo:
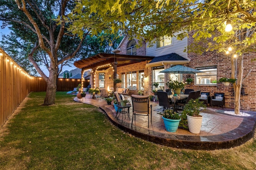
[[[188,130],[191,133],[195,133],[195,134],[200,133],[203,116],[202,117],[193,117],[193,116],[187,115],[187,120],[188,120]]]

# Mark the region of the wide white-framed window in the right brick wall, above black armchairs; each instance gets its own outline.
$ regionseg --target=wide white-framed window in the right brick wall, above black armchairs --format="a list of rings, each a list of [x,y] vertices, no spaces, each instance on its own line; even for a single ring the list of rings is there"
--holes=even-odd
[[[196,84],[205,85],[216,85],[217,80],[217,67],[202,67],[196,68],[197,70],[203,71],[196,74]]]

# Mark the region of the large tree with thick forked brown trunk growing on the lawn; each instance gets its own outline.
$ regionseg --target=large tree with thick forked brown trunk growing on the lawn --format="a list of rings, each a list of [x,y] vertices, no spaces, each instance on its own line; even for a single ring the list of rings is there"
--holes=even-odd
[[[98,24],[89,13],[86,24],[80,28],[79,37],[66,28],[65,16],[73,16],[75,0],[0,0],[0,20],[3,27],[9,26],[17,37],[32,44],[28,59],[47,83],[44,105],[54,104],[58,73],[64,64],[78,56],[86,35],[97,35],[108,25]],[[89,6],[82,9],[84,13]],[[96,28],[98,31],[92,31]],[[94,33],[94,34],[92,34]],[[44,64],[49,77],[40,69]],[[58,67],[59,66],[59,67]]]

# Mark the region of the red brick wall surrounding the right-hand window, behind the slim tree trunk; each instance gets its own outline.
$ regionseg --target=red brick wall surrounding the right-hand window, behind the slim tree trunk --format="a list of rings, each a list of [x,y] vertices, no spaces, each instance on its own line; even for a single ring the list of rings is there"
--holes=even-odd
[[[188,38],[188,44],[193,43],[193,39],[190,36]],[[248,74],[250,68],[254,68],[252,72],[244,79],[243,83],[245,87],[246,96],[241,96],[241,106],[244,110],[256,111],[256,62],[252,62],[251,59],[255,58],[256,54],[244,54],[244,74],[243,77]],[[216,51],[205,52],[202,55],[197,55],[195,53],[188,54],[190,63],[186,64],[188,67],[198,68],[204,66],[217,66],[217,80],[221,77],[231,77],[231,60],[230,56],[222,53],[217,53]],[[238,57],[239,62],[239,57]],[[239,65],[237,65],[239,69]],[[230,76],[226,76],[226,74]],[[194,75],[190,74],[194,79]],[[184,77],[186,80],[187,77]],[[214,92],[224,92],[225,93],[225,106],[234,108],[234,89],[233,86],[224,86],[222,83],[217,83],[216,86],[205,86],[205,85],[194,85],[192,82],[190,85],[186,85],[186,88],[192,88],[194,90],[201,90],[201,92],[210,92],[210,96],[213,96]]]

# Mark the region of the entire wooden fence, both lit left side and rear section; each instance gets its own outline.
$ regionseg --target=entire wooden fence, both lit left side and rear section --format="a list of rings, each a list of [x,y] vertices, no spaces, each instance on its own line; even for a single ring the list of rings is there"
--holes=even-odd
[[[81,79],[58,78],[57,91],[71,91],[80,83]],[[88,85],[89,80],[84,80],[84,87]],[[0,127],[30,92],[45,92],[46,88],[42,77],[28,75],[0,48]]]

